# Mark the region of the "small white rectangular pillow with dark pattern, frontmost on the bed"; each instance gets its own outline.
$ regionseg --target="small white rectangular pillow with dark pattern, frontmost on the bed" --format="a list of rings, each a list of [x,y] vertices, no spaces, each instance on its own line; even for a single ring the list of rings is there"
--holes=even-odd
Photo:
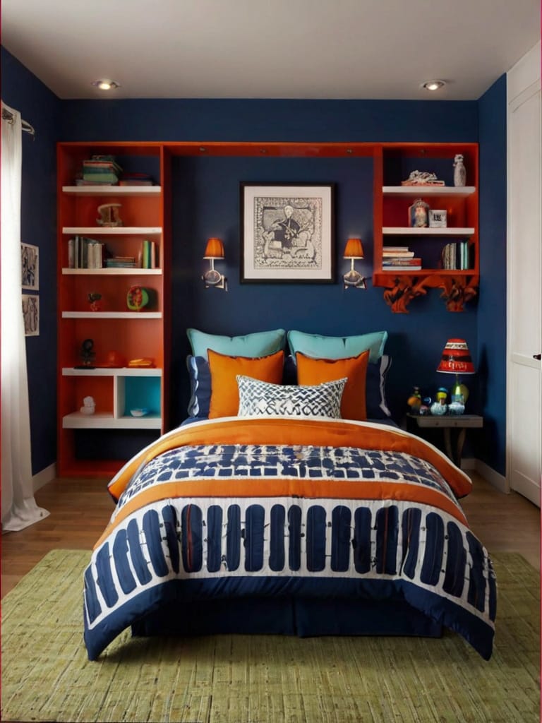
[[[238,416],[330,416],[340,419],[340,401],[347,382],[337,379],[314,386],[295,386],[260,382],[237,375]]]

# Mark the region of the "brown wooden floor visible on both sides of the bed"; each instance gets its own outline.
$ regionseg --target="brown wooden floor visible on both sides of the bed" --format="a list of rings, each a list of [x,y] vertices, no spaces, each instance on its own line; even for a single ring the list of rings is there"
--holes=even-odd
[[[471,476],[473,492],[461,504],[474,534],[489,552],[520,552],[540,570],[540,510],[515,492],[498,492],[476,472]],[[97,479],[55,479],[35,499],[51,514],[1,536],[2,596],[50,549],[90,551],[113,512],[106,482]]]

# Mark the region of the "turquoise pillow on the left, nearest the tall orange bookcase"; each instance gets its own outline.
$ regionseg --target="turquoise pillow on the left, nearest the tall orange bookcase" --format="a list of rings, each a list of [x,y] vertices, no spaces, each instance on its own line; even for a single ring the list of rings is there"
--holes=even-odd
[[[286,332],[284,329],[258,331],[244,336],[221,336],[206,334],[197,329],[187,329],[192,354],[207,359],[207,349],[227,356],[246,356],[255,359],[257,356],[275,354],[284,348]]]

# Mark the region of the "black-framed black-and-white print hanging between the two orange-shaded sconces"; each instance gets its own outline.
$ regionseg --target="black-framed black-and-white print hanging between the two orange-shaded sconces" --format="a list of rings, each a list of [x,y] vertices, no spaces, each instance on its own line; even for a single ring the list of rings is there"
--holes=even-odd
[[[241,183],[241,283],[335,281],[335,184]]]

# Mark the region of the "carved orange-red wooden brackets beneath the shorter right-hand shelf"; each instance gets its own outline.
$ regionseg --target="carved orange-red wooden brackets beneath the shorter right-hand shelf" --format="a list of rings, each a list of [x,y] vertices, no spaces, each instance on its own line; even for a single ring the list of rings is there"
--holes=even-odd
[[[428,288],[442,288],[449,312],[463,312],[465,303],[478,293],[478,276],[418,276],[401,275],[390,279],[384,291],[384,301],[395,314],[408,314],[408,304],[416,296],[427,294]]]

